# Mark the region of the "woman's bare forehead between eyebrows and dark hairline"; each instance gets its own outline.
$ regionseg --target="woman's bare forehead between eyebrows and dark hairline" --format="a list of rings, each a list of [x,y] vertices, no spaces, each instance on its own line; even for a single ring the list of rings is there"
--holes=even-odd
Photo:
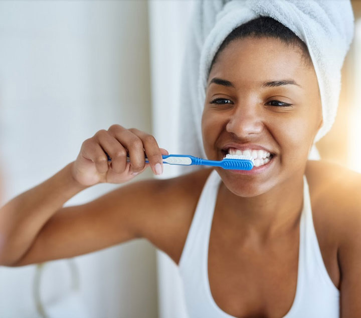
[[[260,83],[265,79],[292,78],[317,85],[313,67],[305,63],[299,47],[269,38],[247,37],[229,43],[219,53],[209,81],[215,76],[236,84],[237,81]]]

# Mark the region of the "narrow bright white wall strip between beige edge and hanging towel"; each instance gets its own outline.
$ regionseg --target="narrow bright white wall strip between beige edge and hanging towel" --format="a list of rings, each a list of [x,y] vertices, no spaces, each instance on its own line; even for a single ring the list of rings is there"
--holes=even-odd
[[[177,129],[180,71],[185,40],[195,1],[149,2],[150,57],[153,133],[158,144],[170,153],[178,153]],[[164,166],[163,178],[180,173]],[[159,317],[186,318],[183,286],[176,264],[163,252],[157,253]]]

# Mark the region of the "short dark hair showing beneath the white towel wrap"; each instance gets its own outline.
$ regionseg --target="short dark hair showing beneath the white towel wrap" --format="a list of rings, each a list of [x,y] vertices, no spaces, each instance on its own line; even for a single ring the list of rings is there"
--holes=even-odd
[[[312,65],[311,56],[306,44],[297,37],[290,29],[282,23],[270,17],[259,17],[251,20],[238,28],[234,29],[227,38],[222,42],[217,53],[215,54],[208,74],[210,74],[213,65],[217,61],[219,54],[232,42],[246,37],[254,38],[273,38],[279,39],[288,46],[299,47],[302,52],[302,58],[307,66]]]

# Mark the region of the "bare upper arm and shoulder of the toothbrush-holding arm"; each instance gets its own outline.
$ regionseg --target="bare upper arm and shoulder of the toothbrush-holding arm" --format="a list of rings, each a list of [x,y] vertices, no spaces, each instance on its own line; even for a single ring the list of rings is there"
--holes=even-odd
[[[61,208],[12,266],[73,257],[140,237],[177,263],[210,171],[134,182],[89,203]]]

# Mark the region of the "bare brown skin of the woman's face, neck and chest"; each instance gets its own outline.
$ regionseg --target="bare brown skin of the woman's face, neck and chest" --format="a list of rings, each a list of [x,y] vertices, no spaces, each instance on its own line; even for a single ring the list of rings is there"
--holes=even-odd
[[[281,317],[296,290],[302,178],[322,114],[313,68],[300,49],[284,47],[274,39],[234,41],[209,75],[202,118],[207,156],[221,160],[230,143],[261,145],[274,154],[272,169],[257,175],[218,170],[223,184],[215,236],[211,232],[210,286],[216,303],[235,316]],[[212,83],[213,78],[232,86]],[[280,81],[296,84],[264,84]],[[233,253],[225,246],[232,246]],[[214,286],[227,286],[242,302]]]

